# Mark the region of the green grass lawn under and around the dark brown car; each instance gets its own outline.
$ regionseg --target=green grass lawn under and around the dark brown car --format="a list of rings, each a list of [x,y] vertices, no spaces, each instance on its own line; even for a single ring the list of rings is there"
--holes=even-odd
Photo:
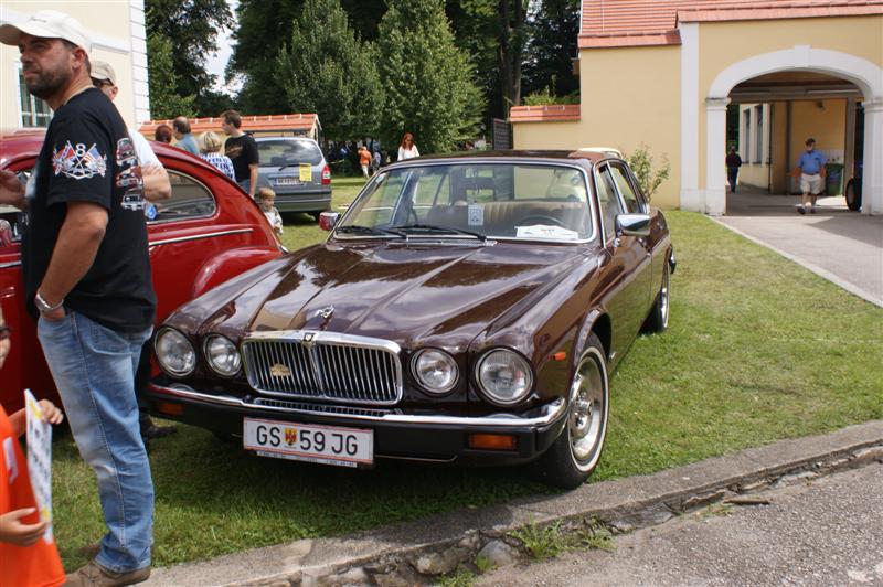
[[[334,182],[334,205],[361,181]],[[670,329],[640,338],[613,377],[593,481],[883,418],[883,309],[711,220],[669,212],[678,255]],[[285,243],[322,239],[304,216]],[[249,457],[179,425],[150,456],[155,565],[370,529],[550,492],[518,469],[381,461],[370,471]],[[68,569],[103,533],[92,472],[55,442],[55,531]]]

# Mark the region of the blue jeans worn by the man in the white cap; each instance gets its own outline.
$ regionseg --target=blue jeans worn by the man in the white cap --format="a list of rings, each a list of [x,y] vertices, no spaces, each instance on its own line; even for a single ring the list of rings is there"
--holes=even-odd
[[[36,328],[74,440],[98,478],[107,534],[95,559],[116,573],[150,564],[153,482],[135,373],[151,330],[116,332],[70,310],[64,320],[40,317]]]

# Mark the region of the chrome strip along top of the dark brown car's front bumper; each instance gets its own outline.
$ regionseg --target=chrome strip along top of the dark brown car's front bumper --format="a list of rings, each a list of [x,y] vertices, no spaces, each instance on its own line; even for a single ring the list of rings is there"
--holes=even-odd
[[[427,426],[476,426],[476,427],[499,427],[519,428],[522,426],[547,426],[561,418],[567,410],[567,402],[563,397],[557,397],[539,408],[540,416],[533,418],[522,418],[514,414],[493,414],[491,416],[411,416],[407,414],[386,414],[383,416],[368,416],[354,414],[318,414],[311,410],[287,409],[272,406],[256,406],[243,402],[238,397],[230,395],[210,395],[196,392],[185,385],[175,384],[175,387],[166,387],[151,383],[149,391],[179,397],[182,399],[193,399],[206,404],[240,407],[264,412],[278,412],[281,414],[304,414],[307,416],[322,416],[329,418],[344,418],[351,420],[376,421],[380,424],[413,424]]]

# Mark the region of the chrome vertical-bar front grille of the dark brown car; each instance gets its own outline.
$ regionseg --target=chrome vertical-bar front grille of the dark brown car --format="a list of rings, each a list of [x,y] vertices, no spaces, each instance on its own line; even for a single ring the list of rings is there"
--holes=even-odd
[[[397,344],[336,332],[257,332],[243,341],[248,384],[276,397],[391,405],[402,397]]]

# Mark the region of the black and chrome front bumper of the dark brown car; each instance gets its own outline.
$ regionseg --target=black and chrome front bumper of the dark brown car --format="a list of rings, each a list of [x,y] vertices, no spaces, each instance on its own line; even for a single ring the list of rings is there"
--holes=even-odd
[[[206,428],[241,436],[243,417],[299,424],[321,424],[374,431],[374,456],[435,462],[517,465],[546,451],[566,423],[566,401],[520,413],[487,416],[406,414],[397,409],[368,409],[268,398],[242,398],[202,393],[182,384],[152,382],[148,386],[151,413]],[[169,405],[181,414],[173,415]],[[515,439],[514,450],[481,450],[469,447],[471,434],[504,434]]]

